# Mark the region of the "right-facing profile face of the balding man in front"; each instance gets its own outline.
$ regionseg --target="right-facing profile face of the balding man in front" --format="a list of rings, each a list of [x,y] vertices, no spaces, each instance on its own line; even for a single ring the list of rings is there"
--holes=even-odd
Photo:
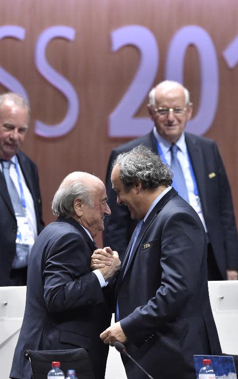
[[[98,231],[104,230],[104,217],[111,215],[111,210],[107,204],[107,194],[103,182],[97,178],[92,180],[92,201],[93,207],[75,200],[74,208],[76,220],[85,227],[94,238]]]

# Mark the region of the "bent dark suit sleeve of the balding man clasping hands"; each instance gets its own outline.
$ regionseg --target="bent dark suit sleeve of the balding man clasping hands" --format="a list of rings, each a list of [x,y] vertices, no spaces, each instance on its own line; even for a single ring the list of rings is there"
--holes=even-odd
[[[59,237],[45,256],[44,301],[48,311],[62,312],[104,301],[97,276],[90,271],[86,241],[78,233]]]

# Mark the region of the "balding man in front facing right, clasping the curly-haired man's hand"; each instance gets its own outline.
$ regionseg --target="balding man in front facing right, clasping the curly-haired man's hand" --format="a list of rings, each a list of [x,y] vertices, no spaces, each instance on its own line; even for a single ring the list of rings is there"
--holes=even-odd
[[[111,213],[105,186],[93,175],[71,173],[55,193],[52,210],[58,218],[43,229],[30,255],[26,308],[10,378],[31,379],[25,349],[83,347],[95,379],[104,379],[108,346],[99,334],[110,325],[111,313],[103,303],[103,287],[120,268],[118,254],[107,248],[111,265],[90,270],[93,238]]]

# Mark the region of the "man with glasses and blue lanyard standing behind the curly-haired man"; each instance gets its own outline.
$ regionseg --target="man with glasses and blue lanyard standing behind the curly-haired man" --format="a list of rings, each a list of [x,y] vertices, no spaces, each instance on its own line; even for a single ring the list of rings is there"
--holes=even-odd
[[[119,252],[122,260],[136,223],[126,207],[118,207],[111,185],[112,162],[121,152],[141,144],[159,153],[168,164],[171,146],[178,146],[177,157],[187,188],[187,200],[197,211],[207,235],[208,280],[238,279],[238,236],[231,189],[214,141],[185,133],[193,104],[189,92],[177,82],[165,80],[149,94],[149,114],[154,129],[147,135],[114,149],[111,153],[106,187],[112,211],[103,233],[104,246]],[[176,181],[176,178],[175,178]],[[182,194],[181,194],[182,195]]]

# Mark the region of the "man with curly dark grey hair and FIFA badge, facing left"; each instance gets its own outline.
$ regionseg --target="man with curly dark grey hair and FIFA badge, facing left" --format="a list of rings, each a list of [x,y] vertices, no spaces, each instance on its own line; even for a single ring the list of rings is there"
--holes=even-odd
[[[118,322],[100,337],[125,343],[154,379],[194,379],[193,354],[221,353],[209,303],[204,227],[171,187],[168,165],[145,146],[120,154],[111,179],[118,205],[141,221],[116,282]],[[127,357],[123,363],[128,379],[147,378]]]

